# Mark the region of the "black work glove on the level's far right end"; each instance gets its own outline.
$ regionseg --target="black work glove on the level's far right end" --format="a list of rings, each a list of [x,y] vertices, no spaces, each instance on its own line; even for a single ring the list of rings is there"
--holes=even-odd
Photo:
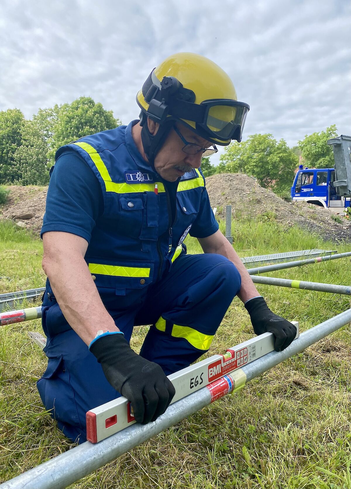
[[[285,350],[295,339],[296,327],[284,317],[272,312],[263,297],[254,297],[245,304],[250,314],[253,331],[256,334],[273,333],[275,336],[274,349],[276,352]]]

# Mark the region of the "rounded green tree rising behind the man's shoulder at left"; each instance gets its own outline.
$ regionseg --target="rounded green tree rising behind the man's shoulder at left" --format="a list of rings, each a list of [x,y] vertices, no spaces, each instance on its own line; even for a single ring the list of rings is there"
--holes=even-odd
[[[121,124],[112,111],[104,110],[101,103],[96,104],[90,97],[80,97],[71,104],[63,104],[53,124],[49,157],[53,161],[55,152],[63,144],[87,134],[114,129]]]

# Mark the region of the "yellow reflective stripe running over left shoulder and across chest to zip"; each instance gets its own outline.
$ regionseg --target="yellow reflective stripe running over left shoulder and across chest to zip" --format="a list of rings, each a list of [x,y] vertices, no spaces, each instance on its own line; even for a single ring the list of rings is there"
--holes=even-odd
[[[155,183],[116,183],[111,180],[108,170],[96,149],[88,143],[72,143],[82,148],[93,160],[101,178],[105,182],[106,192],[115,192],[116,194],[128,194],[136,192],[154,192],[157,183],[158,192],[165,192],[165,186],[161,182]]]

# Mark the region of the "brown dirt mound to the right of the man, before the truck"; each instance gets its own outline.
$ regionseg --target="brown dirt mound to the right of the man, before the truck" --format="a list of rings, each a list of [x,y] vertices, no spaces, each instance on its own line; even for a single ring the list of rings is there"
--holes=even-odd
[[[323,239],[334,242],[351,241],[351,222],[335,221],[329,209],[306,202],[286,202],[271,190],[262,188],[255,178],[242,173],[221,173],[206,178],[206,188],[212,207],[224,217],[225,206],[231,204],[237,218],[263,216],[286,225],[318,233]]]

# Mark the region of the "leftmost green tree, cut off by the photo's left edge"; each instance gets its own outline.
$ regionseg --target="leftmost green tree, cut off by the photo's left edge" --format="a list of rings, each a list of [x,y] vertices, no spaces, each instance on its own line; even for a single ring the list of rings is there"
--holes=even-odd
[[[0,111],[0,183],[13,183],[19,179],[15,153],[21,146],[23,121],[19,109]]]

